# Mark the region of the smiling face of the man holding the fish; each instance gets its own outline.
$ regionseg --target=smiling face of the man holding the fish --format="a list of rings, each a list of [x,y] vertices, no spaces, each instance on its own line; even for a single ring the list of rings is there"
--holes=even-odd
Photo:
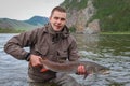
[[[61,31],[66,24],[66,13],[54,11],[50,16],[50,23],[54,31]]]

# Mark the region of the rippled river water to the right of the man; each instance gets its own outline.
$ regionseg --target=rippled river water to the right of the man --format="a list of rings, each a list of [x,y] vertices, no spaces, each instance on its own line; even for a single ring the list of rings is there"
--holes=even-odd
[[[130,35],[78,34],[76,38],[83,60],[110,68],[109,75],[99,75],[91,86],[130,86]],[[86,81],[86,85],[89,83]]]

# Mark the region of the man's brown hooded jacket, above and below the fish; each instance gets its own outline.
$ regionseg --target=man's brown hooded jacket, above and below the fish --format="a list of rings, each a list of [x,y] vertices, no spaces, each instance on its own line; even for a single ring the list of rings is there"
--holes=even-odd
[[[29,46],[30,52],[24,49]],[[42,28],[24,32],[10,39],[4,45],[4,51],[17,59],[27,59],[29,54],[47,57],[49,60],[64,62],[74,61],[79,58],[76,41],[64,26],[61,32],[55,32],[48,24]],[[40,72],[41,68],[29,66],[29,77],[35,81],[46,81],[55,77],[55,73],[48,71]]]

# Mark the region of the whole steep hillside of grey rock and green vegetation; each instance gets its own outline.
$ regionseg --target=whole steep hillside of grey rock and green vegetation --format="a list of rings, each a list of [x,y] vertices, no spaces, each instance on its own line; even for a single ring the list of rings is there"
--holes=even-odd
[[[61,6],[77,32],[130,31],[129,0],[65,0]]]

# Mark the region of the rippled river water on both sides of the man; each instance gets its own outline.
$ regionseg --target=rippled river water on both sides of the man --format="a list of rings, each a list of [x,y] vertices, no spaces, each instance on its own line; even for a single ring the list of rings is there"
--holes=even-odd
[[[27,62],[3,52],[4,43],[14,34],[0,34],[0,86],[28,86]],[[108,75],[90,75],[84,86],[130,86],[130,35],[75,35],[81,60],[91,60],[110,68]]]

